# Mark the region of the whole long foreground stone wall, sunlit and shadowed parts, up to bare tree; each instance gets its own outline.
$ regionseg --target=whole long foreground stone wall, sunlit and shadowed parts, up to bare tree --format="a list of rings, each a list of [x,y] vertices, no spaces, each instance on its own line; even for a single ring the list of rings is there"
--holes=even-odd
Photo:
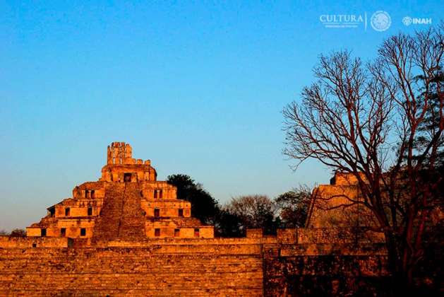
[[[302,296],[320,289],[340,295],[371,291],[372,281],[386,279],[379,245],[353,248],[316,237],[298,243],[295,232],[95,247],[69,240],[44,245],[52,238],[39,238],[32,248],[26,239],[0,238],[0,296]]]

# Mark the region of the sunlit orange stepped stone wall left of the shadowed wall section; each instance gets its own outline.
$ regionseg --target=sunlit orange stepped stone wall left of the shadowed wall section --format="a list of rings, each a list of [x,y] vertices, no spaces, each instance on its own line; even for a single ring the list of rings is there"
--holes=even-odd
[[[258,255],[151,248],[0,250],[0,295],[260,296]]]

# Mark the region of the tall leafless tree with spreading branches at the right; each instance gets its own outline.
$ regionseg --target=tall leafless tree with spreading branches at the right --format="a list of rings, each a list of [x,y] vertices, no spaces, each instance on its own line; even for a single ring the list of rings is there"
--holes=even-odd
[[[350,52],[320,56],[317,81],[283,111],[284,154],[299,163],[315,158],[356,177],[362,198],[349,197],[349,203],[375,217],[398,285],[412,285],[433,191],[443,182],[436,174],[444,129],[443,86],[436,79],[443,69],[443,28],[392,36],[367,64]],[[438,124],[417,146],[433,96]]]

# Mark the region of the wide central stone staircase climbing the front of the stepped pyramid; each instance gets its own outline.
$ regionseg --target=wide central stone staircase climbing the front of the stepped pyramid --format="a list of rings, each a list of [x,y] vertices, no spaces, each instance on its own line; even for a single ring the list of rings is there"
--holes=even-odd
[[[138,183],[107,185],[102,211],[95,221],[92,244],[116,239],[145,239],[145,215],[140,198]]]

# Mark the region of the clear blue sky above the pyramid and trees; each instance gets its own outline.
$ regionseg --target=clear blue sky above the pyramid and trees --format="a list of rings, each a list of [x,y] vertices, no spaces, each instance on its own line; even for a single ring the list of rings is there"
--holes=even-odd
[[[442,1],[1,1],[0,229],[23,228],[100,177],[112,141],[160,180],[191,175],[220,202],[327,183],[282,156],[282,107],[311,83],[318,54],[368,59],[404,16]],[[85,2],[85,3],[84,3]],[[133,2],[133,1],[131,1]],[[323,14],[387,11],[391,27],[324,28]]]

